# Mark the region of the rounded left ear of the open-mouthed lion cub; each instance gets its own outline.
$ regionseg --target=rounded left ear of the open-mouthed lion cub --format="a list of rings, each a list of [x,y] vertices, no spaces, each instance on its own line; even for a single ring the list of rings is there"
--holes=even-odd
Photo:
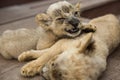
[[[52,22],[50,17],[45,13],[37,14],[35,17],[35,20],[37,21],[39,26],[41,26],[45,29],[49,29],[49,26]]]

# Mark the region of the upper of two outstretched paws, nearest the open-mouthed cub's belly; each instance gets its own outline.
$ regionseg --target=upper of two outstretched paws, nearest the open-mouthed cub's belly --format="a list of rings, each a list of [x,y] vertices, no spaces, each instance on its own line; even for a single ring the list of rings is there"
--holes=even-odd
[[[18,61],[23,62],[23,61],[28,61],[32,58],[32,56],[30,56],[31,51],[26,51],[23,52],[21,55],[18,56]]]

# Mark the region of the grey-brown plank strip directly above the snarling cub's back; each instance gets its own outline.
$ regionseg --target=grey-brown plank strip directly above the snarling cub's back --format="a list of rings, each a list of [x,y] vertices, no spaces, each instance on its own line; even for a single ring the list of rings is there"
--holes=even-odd
[[[30,17],[24,20],[19,20],[15,22],[11,22],[9,24],[0,26],[0,34],[6,29],[18,29],[18,28],[36,28],[38,25],[36,24],[34,17]]]

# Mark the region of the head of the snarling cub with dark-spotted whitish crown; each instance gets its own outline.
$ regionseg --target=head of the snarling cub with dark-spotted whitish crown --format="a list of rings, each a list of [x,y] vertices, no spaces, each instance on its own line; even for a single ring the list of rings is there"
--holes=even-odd
[[[81,32],[80,4],[73,6],[66,1],[50,5],[47,13],[38,14],[36,20],[45,30],[56,36],[76,37]]]

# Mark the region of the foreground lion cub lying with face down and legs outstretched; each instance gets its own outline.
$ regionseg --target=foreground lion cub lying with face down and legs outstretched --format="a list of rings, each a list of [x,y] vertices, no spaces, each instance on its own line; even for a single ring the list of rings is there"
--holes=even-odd
[[[88,33],[75,39],[62,39],[48,49],[20,55],[19,60],[32,53],[39,57],[21,69],[22,75],[33,76],[42,71],[49,80],[97,80],[106,69],[107,56],[120,43],[120,25],[111,14],[89,23],[97,27],[93,37]],[[89,50],[91,40],[94,48]]]

